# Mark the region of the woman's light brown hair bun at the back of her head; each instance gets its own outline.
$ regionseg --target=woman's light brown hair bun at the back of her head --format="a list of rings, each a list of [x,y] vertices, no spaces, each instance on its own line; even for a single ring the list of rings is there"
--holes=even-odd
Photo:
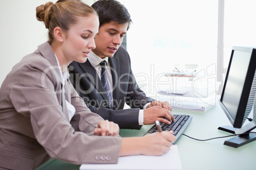
[[[50,21],[50,16],[52,14],[52,2],[48,2],[46,4],[41,4],[40,6],[36,7],[36,19],[39,20],[40,22],[45,23],[46,29],[48,29],[49,21]]]

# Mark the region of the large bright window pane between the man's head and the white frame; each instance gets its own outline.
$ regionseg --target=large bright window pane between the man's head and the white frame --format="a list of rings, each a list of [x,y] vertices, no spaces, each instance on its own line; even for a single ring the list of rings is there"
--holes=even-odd
[[[216,67],[218,1],[119,0],[131,14],[127,51],[139,86],[147,95],[174,68]],[[156,84],[158,82],[158,84]],[[146,85],[146,86],[145,86]]]

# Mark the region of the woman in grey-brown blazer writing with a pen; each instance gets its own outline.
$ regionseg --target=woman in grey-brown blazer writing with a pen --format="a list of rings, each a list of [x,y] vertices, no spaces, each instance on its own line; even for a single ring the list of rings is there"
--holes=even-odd
[[[162,155],[176,138],[157,133],[120,138],[90,112],[68,79],[69,63],[95,48],[98,16],[81,1],[36,8],[48,41],[13,67],[0,89],[0,169],[34,169],[50,157],[73,164],[117,163],[124,155]]]

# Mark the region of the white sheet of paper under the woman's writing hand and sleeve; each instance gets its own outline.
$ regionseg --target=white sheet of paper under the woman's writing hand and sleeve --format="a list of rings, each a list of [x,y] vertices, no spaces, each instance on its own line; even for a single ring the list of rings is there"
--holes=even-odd
[[[120,157],[118,164],[83,164],[80,170],[180,170],[182,169],[177,145],[161,156],[133,155]]]

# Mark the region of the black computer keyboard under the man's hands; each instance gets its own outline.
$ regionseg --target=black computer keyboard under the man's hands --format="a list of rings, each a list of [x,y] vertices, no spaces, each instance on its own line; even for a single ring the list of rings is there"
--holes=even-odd
[[[173,131],[173,134],[176,136],[177,141],[192,120],[192,116],[182,114],[173,116],[175,119],[174,122],[171,122],[171,124],[160,123],[160,126],[162,128],[162,131]],[[152,126],[152,128],[150,128],[144,135],[152,134],[155,132],[158,132],[156,125]]]

